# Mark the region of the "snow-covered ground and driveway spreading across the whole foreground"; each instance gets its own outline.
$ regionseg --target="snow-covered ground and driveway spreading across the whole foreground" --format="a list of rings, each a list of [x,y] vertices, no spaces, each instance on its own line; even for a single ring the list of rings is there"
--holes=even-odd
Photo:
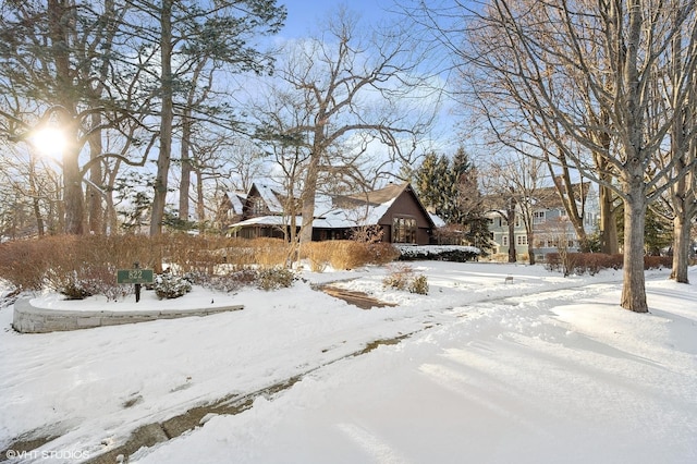
[[[195,288],[169,302],[145,294],[137,306],[95,298],[80,306],[245,309],[74,332],[19,334],[3,307],[0,449],[56,436],[11,461],[86,461],[143,425],[302,376],[130,462],[697,462],[695,284],[648,271],[650,314],[639,315],[619,307],[616,271],[412,266],[429,295],[386,290],[386,268],[370,267],[304,272],[276,292]],[[396,306],[363,310],[310,288],[332,280]],[[51,295],[34,304],[75,308]]]

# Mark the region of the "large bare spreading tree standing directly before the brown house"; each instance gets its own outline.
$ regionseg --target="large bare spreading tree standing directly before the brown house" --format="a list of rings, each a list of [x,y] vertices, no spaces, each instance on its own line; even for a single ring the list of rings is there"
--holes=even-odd
[[[321,38],[286,47],[278,71],[281,89],[273,94],[290,101],[285,108],[296,114],[280,113],[262,125],[279,141],[292,138],[308,155],[301,192],[305,243],[311,241],[322,175],[357,183],[364,179],[359,166],[367,156],[386,166],[408,161],[417,136],[432,119],[432,108],[424,105],[425,91],[432,90],[418,74],[418,47],[406,30],[362,34],[345,10],[329,19]],[[383,158],[375,156],[374,142],[389,150]]]

